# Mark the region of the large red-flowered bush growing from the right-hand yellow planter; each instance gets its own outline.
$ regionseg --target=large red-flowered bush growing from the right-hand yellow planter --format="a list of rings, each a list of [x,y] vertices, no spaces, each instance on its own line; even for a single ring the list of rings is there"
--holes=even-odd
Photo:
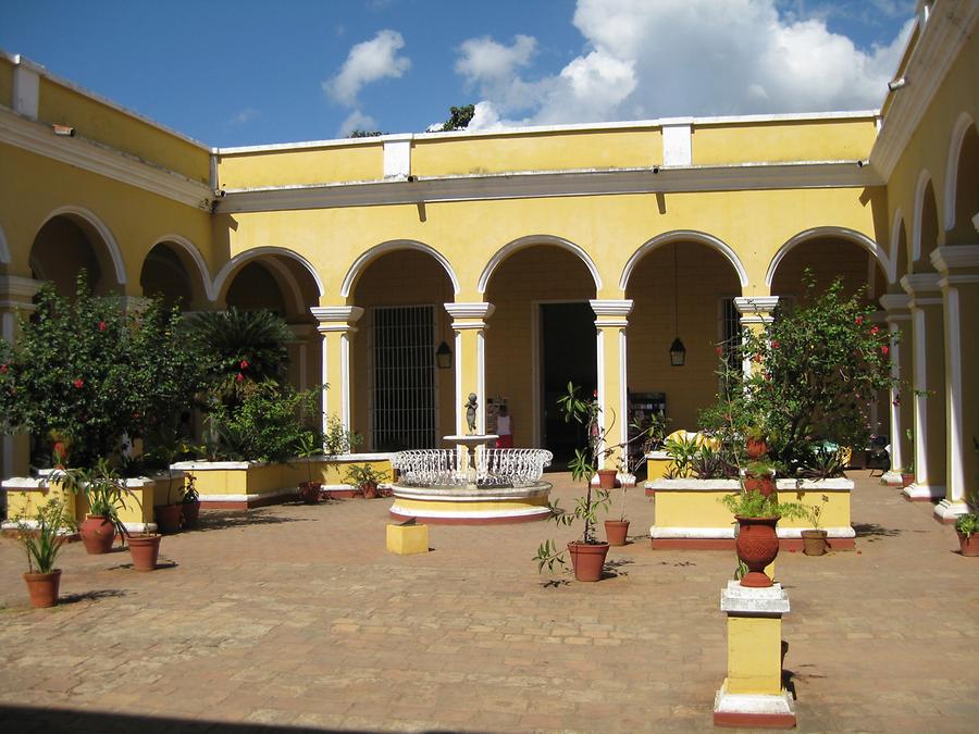
[[[722,395],[701,415],[704,427],[732,443],[765,437],[770,457],[791,473],[831,444],[867,446],[870,406],[893,382],[894,336],[871,323],[863,291],[843,298],[838,279],[817,294],[808,272],[804,283],[797,307],[780,307],[764,329],[744,332],[738,359],[721,363]],[[742,360],[752,365],[747,375],[739,369]]]

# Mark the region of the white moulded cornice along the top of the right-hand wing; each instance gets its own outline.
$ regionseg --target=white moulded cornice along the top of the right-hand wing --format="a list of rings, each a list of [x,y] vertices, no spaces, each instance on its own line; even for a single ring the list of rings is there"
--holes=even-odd
[[[880,135],[870,151],[870,162],[884,178],[891,177],[901,153],[979,20],[979,2],[975,0],[955,3],[954,7],[953,3],[942,3],[942,11],[931,13],[921,29],[904,70],[907,86],[893,92]]]

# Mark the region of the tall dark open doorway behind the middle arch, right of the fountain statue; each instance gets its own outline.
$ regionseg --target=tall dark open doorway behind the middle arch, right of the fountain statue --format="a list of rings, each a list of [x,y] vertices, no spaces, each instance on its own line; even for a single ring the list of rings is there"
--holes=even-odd
[[[541,304],[542,443],[554,453],[554,466],[563,469],[575,448],[585,445],[584,427],[566,423],[557,399],[568,383],[588,397],[598,384],[595,313],[587,302]]]

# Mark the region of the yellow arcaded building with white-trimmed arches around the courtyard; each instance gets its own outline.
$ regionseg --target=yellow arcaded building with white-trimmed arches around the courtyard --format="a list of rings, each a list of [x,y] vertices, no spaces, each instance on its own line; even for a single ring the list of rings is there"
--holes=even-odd
[[[276,310],[293,380],[330,383],[325,412],[368,451],[439,445],[475,393],[480,427],[503,399],[517,446],[560,452],[569,378],[616,432],[649,393],[692,427],[717,343],[797,297],[810,266],[866,285],[904,333],[912,388],[875,420],[895,465],[914,452],[909,496],[944,498],[947,519],[979,475],[977,18],[971,0],[920,2],[881,110],[248,148],[2,53],[2,333],[40,279],[66,289],[87,268],[102,293]],[[5,476],[23,453],[4,440]]]

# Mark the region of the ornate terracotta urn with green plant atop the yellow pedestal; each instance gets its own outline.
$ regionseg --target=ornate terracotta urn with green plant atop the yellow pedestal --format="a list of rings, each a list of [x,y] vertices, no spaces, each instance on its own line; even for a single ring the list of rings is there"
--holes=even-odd
[[[771,586],[765,567],[779,555],[776,525],[781,518],[803,518],[807,510],[797,502],[779,502],[776,496],[765,497],[758,492],[744,489],[726,495],[721,501],[738,523],[734,548],[738,560],[747,567],[741,585],[752,588]]]

